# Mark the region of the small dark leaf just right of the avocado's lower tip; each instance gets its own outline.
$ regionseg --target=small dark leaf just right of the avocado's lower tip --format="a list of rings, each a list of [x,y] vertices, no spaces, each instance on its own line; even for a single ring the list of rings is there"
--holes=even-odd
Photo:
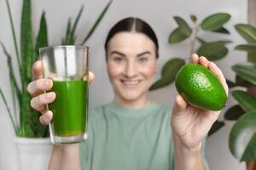
[[[228,111],[225,112],[224,118],[225,120],[236,121],[244,113],[245,111],[241,109],[240,105],[233,105]]]

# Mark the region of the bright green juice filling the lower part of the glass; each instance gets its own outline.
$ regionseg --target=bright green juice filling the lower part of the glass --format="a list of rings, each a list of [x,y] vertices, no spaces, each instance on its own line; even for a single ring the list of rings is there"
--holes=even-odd
[[[87,81],[54,81],[51,91],[56,94],[55,101],[49,104],[55,135],[83,134],[87,119]]]

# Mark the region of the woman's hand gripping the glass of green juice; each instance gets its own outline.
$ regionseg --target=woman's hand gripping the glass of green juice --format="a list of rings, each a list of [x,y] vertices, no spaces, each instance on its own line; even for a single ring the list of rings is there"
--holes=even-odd
[[[35,81],[27,85],[27,91],[32,95],[31,107],[42,113],[39,120],[42,124],[47,125],[52,119],[52,111],[46,111],[46,105],[55,100],[55,93],[49,92],[44,94],[44,91],[49,91],[53,82],[50,79],[43,78],[42,61],[38,60],[32,66],[32,77]],[[89,83],[94,80],[94,75],[89,72]]]

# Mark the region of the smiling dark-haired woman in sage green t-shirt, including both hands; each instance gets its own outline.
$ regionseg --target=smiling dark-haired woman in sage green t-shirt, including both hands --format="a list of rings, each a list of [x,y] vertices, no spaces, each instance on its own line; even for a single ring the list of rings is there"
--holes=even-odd
[[[178,169],[207,168],[202,140],[220,111],[205,111],[188,105],[180,96],[172,111],[148,99],[158,59],[158,41],[143,20],[126,18],[109,31],[105,43],[108,77],[114,101],[90,110],[88,139],[81,144],[55,145],[49,169]],[[193,63],[206,66],[223,84],[224,75],[205,57],[191,56]],[[36,81],[27,89],[31,106],[49,124],[52,112],[44,105],[54,101],[52,82],[42,78],[42,64],[32,68]],[[89,75],[89,82],[93,81]],[[172,130],[171,130],[172,129]],[[175,166],[175,167],[174,167]]]

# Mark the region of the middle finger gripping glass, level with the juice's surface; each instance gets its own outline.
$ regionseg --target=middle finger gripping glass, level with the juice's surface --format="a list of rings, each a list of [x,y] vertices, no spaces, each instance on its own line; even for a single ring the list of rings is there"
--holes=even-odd
[[[43,94],[44,91],[50,90],[52,86],[52,80],[40,78],[34,82],[30,82],[27,85],[27,91],[32,96],[37,96],[38,94]]]

